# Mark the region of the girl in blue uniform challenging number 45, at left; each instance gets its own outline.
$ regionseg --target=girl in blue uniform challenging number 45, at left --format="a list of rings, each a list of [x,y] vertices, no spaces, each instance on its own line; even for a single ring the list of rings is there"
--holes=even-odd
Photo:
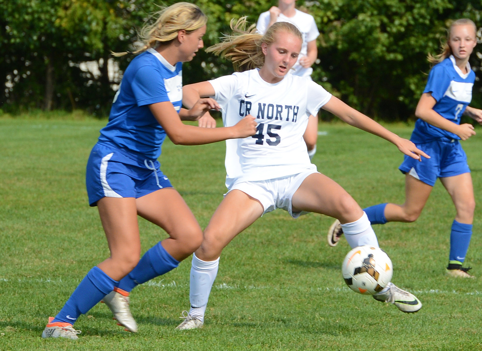
[[[200,226],[160,170],[162,142],[168,135],[175,144],[198,145],[244,138],[256,131],[253,117],[231,128],[206,129],[181,122],[218,108],[212,99],[200,99],[190,110],[181,108],[182,62],[191,61],[203,47],[206,22],[199,7],[181,2],[162,10],[157,22],[141,32],[145,45],[134,53],[142,53],[127,67],[109,122],[87,163],[89,203],[98,207],[110,257],[92,268],[62,310],[49,318],[42,338],[77,339],[80,331],[73,323],[102,299],[120,325],[136,332],[129,292],[169,272],[201,244]],[[169,236],[140,260],[137,215]]]

